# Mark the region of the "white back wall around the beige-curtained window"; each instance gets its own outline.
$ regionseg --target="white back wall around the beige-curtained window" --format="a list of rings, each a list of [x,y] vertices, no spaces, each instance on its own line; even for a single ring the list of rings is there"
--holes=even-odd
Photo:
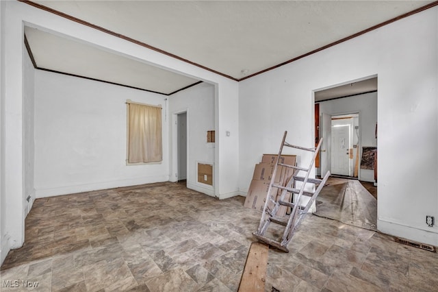
[[[168,180],[165,95],[36,71],[37,197]],[[163,106],[163,161],[126,165],[127,99]]]

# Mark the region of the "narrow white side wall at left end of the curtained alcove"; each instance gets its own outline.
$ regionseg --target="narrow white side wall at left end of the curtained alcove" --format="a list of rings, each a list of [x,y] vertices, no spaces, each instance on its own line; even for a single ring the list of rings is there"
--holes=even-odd
[[[24,192],[23,216],[29,213],[35,200],[34,171],[35,171],[35,142],[34,142],[34,117],[35,117],[35,69],[29,53],[23,51],[23,132],[24,132]],[[29,202],[27,197],[30,197]]]

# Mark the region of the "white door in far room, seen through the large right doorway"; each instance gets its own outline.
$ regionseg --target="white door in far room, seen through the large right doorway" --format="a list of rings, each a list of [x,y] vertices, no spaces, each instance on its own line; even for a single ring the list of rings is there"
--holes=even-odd
[[[333,125],[331,128],[331,173],[351,175],[350,169],[351,125]]]

